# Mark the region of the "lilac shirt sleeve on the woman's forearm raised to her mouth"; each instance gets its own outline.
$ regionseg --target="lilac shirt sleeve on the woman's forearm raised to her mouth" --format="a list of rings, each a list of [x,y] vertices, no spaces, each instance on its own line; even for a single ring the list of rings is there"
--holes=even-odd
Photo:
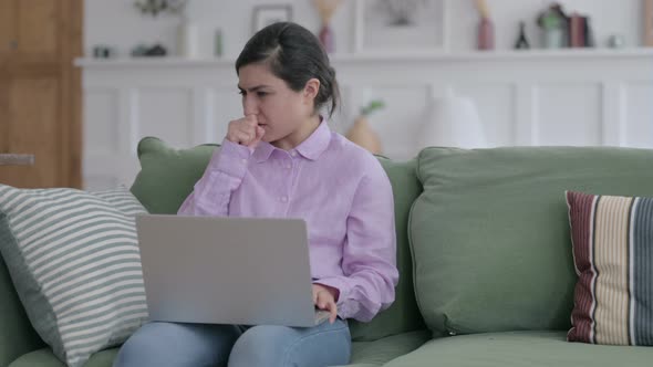
[[[177,213],[227,217],[231,193],[242,182],[250,156],[250,148],[225,139]]]

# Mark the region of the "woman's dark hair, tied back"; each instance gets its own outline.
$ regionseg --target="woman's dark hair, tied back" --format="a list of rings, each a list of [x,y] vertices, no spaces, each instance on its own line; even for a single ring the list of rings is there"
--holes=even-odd
[[[319,80],[315,111],[331,102],[329,116],[333,115],[340,102],[335,70],[331,67],[318,38],[305,28],[279,22],[258,31],[240,52],[236,73],[239,73],[240,67],[253,63],[268,64],[272,74],[283,80],[294,92],[303,90],[309,80]]]

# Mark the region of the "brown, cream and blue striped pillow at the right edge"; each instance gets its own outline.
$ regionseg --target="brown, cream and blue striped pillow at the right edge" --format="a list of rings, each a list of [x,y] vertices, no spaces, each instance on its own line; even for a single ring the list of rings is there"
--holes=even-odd
[[[653,345],[653,199],[567,192],[578,283],[570,342]]]

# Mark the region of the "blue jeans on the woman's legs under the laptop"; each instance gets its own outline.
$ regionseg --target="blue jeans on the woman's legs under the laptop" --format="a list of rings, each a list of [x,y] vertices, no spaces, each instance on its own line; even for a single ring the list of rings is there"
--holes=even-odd
[[[345,321],[298,328],[149,323],[121,348],[114,367],[321,367],[349,364]]]

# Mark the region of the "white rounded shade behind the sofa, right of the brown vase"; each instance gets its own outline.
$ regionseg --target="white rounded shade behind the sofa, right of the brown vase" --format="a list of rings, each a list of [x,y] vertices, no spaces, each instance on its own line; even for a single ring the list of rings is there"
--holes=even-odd
[[[484,148],[478,111],[471,99],[448,93],[433,101],[419,130],[419,147]]]

